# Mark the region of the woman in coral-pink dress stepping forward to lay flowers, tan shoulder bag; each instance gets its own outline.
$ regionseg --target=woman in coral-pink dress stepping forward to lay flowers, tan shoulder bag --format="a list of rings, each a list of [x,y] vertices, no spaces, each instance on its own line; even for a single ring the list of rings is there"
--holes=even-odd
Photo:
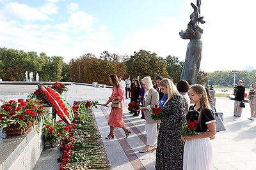
[[[125,138],[127,138],[129,136],[129,134],[131,134],[131,131],[129,131],[124,126],[124,120],[123,120],[124,92],[122,90],[121,85],[119,84],[116,74],[111,74],[109,76],[109,82],[111,83],[111,85],[113,85],[112,94],[110,97],[108,97],[109,99],[108,99],[107,103],[102,104],[102,106],[107,106],[113,100],[119,100],[121,103],[121,108],[112,108],[111,109],[111,112],[109,114],[109,119],[108,119],[108,125],[110,126],[110,132],[109,132],[109,135],[105,139],[114,138],[115,127],[121,127],[122,129],[124,129]]]

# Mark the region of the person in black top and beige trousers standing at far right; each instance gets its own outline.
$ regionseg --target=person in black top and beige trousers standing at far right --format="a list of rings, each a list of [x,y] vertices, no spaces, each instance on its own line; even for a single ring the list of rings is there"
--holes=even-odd
[[[241,117],[243,108],[240,107],[241,102],[244,102],[244,92],[245,88],[243,87],[243,81],[238,81],[238,86],[235,87],[235,103],[234,103],[234,117]]]

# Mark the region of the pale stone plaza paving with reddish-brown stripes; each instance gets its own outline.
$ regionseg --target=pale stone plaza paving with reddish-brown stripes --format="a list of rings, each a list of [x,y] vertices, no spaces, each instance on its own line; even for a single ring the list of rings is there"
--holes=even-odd
[[[6,88],[13,89],[10,85]],[[23,89],[26,93],[26,91],[31,92],[33,88],[35,89],[34,86],[30,89],[25,86],[15,90]],[[103,104],[111,95],[111,89],[108,88],[70,85],[68,89],[67,100],[69,103],[75,100],[92,100]],[[2,90],[4,90],[4,87],[0,85],[0,99],[3,99],[1,98],[3,97]],[[12,90],[8,93],[13,97]],[[19,95],[25,96],[26,94],[20,92]],[[8,100],[8,97],[5,99]],[[125,99],[124,106],[127,106],[128,103],[129,99]],[[243,109],[242,117],[237,118],[233,117],[234,101],[223,97],[216,98],[216,110],[224,113],[223,118],[227,131],[218,132],[216,138],[211,141],[215,169],[256,169],[256,121],[247,119],[250,117],[250,106],[248,103],[245,104],[246,108]],[[133,117],[127,108],[124,108],[124,122],[125,127],[129,128],[132,134],[125,139],[124,131],[116,128],[114,139],[104,139],[109,133],[108,115],[110,110],[111,108],[100,106],[98,109],[93,109],[93,112],[111,169],[154,169],[156,148],[152,148],[151,152],[138,153],[146,141],[145,122],[140,117]],[[58,150],[52,150],[52,154],[58,155]],[[45,150],[35,169],[60,168],[56,162],[49,162],[49,160],[54,160],[54,156],[51,155],[49,150]]]

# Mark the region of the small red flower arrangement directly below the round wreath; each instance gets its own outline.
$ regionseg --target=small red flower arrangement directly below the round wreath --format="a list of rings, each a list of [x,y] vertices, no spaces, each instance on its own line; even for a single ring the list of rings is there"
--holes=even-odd
[[[45,139],[49,142],[60,141],[68,138],[68,130],[69,125],[63,125],[63,120],[56,122],[56,120],[45,118],[42,134],[44,134]]]

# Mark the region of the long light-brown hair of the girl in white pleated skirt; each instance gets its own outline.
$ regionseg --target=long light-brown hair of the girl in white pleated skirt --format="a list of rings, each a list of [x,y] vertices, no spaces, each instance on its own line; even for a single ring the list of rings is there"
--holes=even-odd
[[[199,117],[198,117],[198,122],[201,125],[202,115],[205,114],[204,109],[207,108],[207,109],[211,110],[211,106],[209,104],[206,90],[202,85],[193,85],[192,87],[190,87],[190,89],[193,89],[193,91],[198,95],[202,94],[202,97],[200,98],[200,113],[199,113]]]

